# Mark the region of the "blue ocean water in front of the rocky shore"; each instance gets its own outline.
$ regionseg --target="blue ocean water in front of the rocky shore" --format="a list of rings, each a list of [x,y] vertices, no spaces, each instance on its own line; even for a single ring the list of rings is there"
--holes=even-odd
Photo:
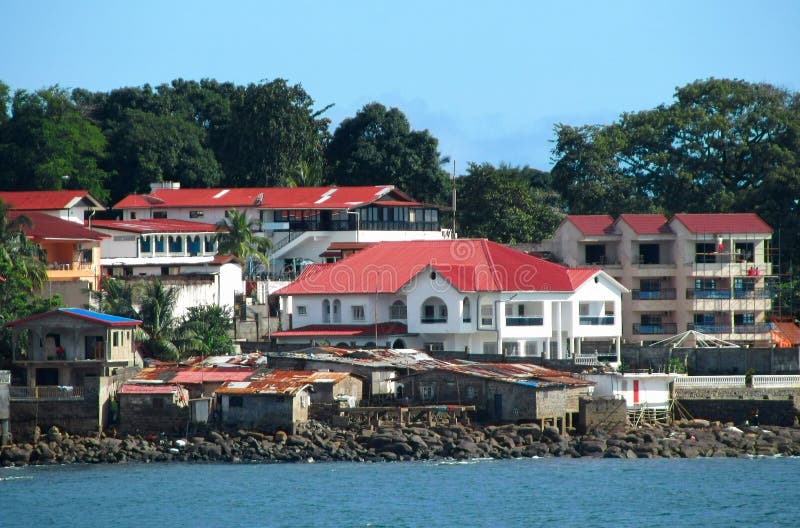
[[[0,526],[800,526],[800,459],[0,468]]]

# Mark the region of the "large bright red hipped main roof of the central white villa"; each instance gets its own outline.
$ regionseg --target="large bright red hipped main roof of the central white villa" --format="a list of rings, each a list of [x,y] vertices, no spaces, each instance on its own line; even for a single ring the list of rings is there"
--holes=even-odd
[[[308,266],[276,293],[394,293],[423,271],[462,292],[566,292],[590,277],[485,239],[415,240],[381,242],[334,264]]]

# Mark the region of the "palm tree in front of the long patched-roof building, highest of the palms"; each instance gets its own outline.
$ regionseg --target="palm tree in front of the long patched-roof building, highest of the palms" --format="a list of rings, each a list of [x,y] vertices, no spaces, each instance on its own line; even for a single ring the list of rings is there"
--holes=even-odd
[[[272,241],[255,235],[259,228],[258,219],[247,219],[247,212],[231,209],[226,217],[217,222],[217,253],[234,255],[247,263],[248,275],[252,275],[253,261],[269,268],[267,252],[272,249]]]

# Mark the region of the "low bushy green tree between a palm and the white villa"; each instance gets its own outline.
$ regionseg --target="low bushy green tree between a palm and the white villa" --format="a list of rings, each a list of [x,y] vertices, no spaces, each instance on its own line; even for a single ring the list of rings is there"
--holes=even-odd
[[[216,305],[193,306],[178,329],[183,356],[220,356],[233,353],[230,308]]]

